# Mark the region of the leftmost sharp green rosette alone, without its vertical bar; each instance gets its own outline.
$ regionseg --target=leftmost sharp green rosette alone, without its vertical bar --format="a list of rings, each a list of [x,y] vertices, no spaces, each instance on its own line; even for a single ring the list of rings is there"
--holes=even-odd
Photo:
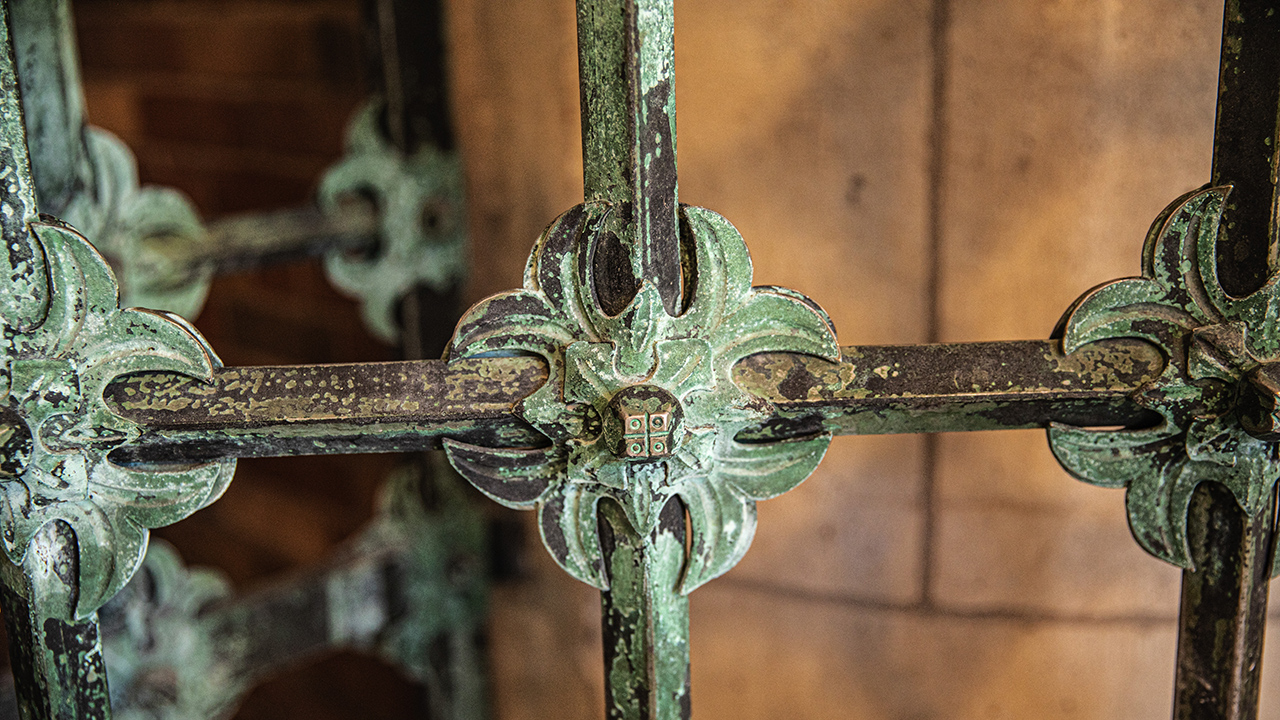
[[[10,187],[10,199],[12,193]],[[64,607],[50,611],[78,620],[133,575],[146,552],[148,528],[174,523],[216,500],[236,466],[234,460],[156,468],[114,464],[110,451],[141,430],[106,407],[104,388],[141,370],[210,379],[219,363],[180,318],[119,309],[110,268],[68,225],[49,219],[5,229],[4,551],[29,582],[60,583],[33,588],[40,596],[35,600],[58,597]],[[55,579],[45,566],[50,559],[29,548],[37,534],[47,534],[58,523],[74,533],[77,562],[69,573],[55,571]]]

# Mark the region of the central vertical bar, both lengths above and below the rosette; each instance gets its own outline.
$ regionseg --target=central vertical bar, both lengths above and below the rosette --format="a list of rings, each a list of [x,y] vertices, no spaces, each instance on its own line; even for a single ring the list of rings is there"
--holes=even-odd
[[[676,183],[673,0],[579,0],[582,176],[588,202],[607,202],[593,258],[596,297],[609,314],[653,284],[681,311]],[[668,501],[652,532],[600,503],[600,594],[609,720],[689,717],[689,598],[680,593],[685,514]]]

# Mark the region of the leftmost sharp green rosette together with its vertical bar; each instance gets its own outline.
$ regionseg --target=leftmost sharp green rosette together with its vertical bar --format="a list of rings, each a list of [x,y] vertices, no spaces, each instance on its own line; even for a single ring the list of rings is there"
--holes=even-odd
[[[108,383],[134,370],[207,378],[218,359],[179,318],[120,310],[101,255],[69,225],[37,219],[13,12],[0,36],[0,600],[23,716],[108,717],[96,610],[141,564],[147,529],[215,500],[234,461],[108,459],[140,432],[102,404]]]

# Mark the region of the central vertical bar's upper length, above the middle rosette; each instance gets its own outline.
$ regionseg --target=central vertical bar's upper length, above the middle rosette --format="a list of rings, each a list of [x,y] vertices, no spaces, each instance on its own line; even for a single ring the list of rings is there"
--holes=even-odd
[[[613,206],[598,287],[621,311],[650,282],[667,313],[681,309],[676,218],[673,0],[579,0],[582,176],[588,202]],[[612,249],[612,250],[611,250]]]

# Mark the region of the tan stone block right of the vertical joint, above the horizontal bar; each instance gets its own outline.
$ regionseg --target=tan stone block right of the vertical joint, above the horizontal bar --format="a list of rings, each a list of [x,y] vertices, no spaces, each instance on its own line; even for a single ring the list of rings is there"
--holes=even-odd
[[[952,3],[942,340],[1043,337],[1208,179],[1221,3]]]

